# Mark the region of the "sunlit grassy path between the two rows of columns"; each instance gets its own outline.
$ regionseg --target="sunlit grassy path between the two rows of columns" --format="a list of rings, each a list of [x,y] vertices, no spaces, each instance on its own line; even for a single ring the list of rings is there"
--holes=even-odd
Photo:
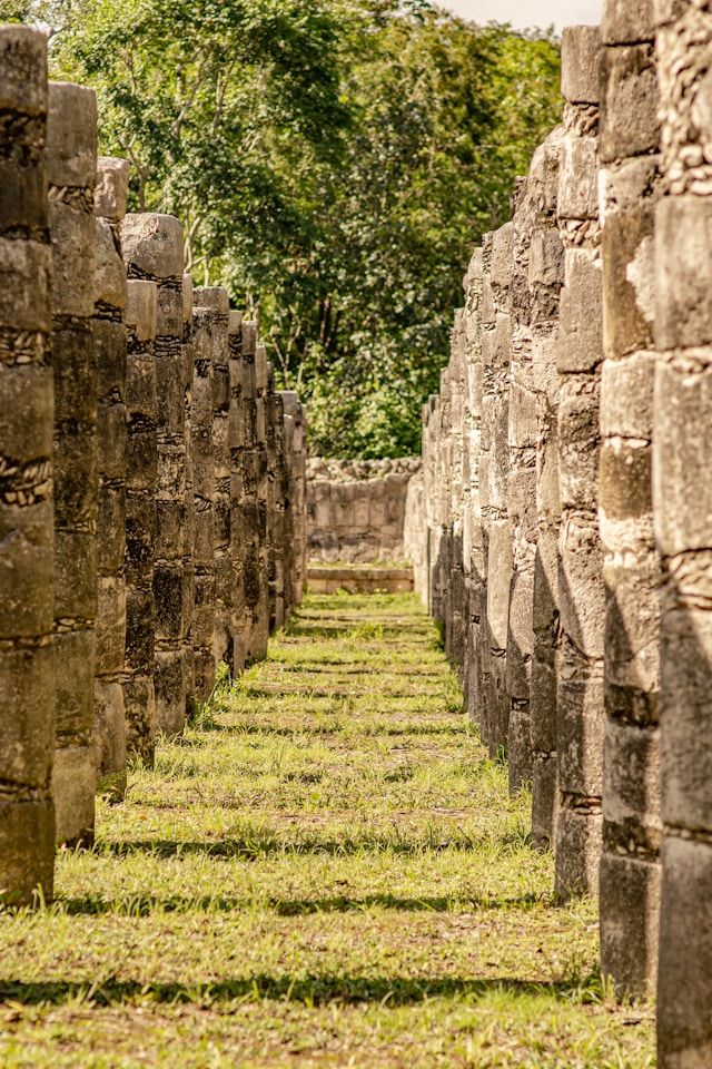
[[[0,1065],[639,1069],[409,596],[312,597],[0,916]]]

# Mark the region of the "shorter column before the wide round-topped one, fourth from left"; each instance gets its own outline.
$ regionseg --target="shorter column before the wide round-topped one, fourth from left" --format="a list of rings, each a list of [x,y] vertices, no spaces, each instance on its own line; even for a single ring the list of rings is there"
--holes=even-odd
[[[134,278],[127,285],[123,705],[127,752],[149,762],[156,739],[157,298],[155,282]]]

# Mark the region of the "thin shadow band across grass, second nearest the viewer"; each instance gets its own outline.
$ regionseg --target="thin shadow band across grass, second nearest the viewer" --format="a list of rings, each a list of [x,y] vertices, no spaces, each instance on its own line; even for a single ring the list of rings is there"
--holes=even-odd
[[[69,916],[97,916],[113,914],[119,916],[149,916],[151,913],[240,913],[255,905],[270,910],[277,916],[312,916],[316,913],[358,913],[363,910],[394,910],[405,913],[456,913],[464,909],[487,911],[520,911],[538,909],[548,903],[537,894],[522,894],[516,898],[434,896],[399,898],[395,894],[365,894],[360,898],[332,895],[323,899],[266,899],[264,902],[251,899],[227,898],[221,895],[160,896],[137,894],[126,899],[100,899],[88,895],[81,899],[59,899],[55,909]]]

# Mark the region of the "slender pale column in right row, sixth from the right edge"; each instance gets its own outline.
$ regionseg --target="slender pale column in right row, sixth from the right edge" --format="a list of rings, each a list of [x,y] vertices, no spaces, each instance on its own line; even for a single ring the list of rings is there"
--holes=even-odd
[[[512,529],[507,516],[510,469],[508,410],[512,357],[512,267],[514,228],[505,224],[485,244],[482,359],[485,374],[483,428],[486,424],[486,491],[481,472],[483,511],[487,514],[488,745],[494,756],[506,752],[510,696],[506,649],[512,583]]]

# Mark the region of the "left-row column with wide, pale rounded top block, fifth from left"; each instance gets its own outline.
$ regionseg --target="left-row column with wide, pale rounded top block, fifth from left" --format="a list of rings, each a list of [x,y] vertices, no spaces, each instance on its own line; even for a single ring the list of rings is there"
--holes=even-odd
[[[177,735],[186,718],[185,641],[189,627],[184,569],[186,411],[182,353],[182,228],[169,215],[127,215],[121,227],[129,278],[156,282],[154,355],[158,422],[156,498],[156,725]],[[150,764],[152,744],[141,754]]]

